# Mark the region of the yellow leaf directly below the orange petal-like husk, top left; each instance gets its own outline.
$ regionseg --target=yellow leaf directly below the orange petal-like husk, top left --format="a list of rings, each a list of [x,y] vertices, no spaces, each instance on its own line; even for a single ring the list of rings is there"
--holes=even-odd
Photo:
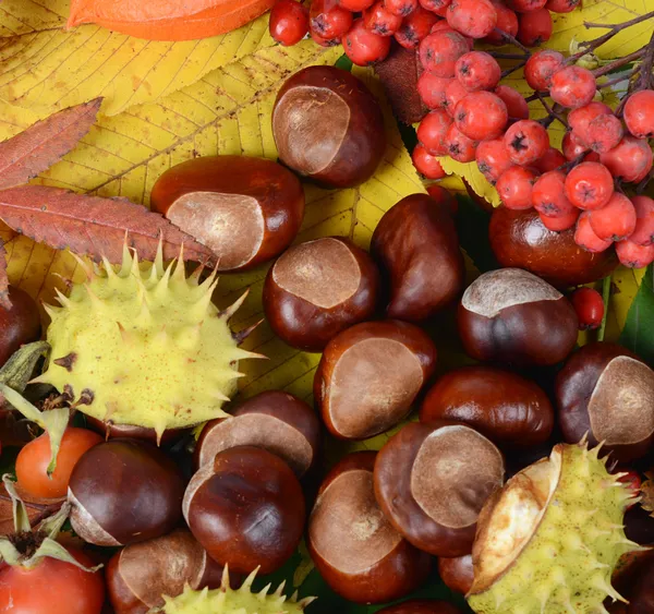
[[[267,15],[229,34],[180,43],[142,40],[97,25],[66,31],[69,4],[0,4],[0,99],[39,118],[98,96],[105,97],[102,112],[117,115],[275,43]]]

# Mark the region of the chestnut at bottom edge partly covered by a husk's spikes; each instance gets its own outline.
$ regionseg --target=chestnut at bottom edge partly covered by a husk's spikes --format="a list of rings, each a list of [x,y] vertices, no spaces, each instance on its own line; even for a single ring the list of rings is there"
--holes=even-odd
[[[164,605],[162,595],[220,587],[222,567],[213,561],[187,529],[123,547],[105,569],[116,614],[146,614]]]

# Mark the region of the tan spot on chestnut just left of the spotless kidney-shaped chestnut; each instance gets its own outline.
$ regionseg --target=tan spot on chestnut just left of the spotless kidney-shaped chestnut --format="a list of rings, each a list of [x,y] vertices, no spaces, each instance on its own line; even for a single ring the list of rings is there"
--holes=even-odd
[[[275,263],[272,279],[287,292],[322,309],[331,309],[356,292],[361,269],[344,243],[327,238],[286,252]]]

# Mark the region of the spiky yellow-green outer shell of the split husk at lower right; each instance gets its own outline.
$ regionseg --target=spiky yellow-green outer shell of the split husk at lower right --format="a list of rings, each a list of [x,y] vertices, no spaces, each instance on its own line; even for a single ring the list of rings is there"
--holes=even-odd
[[[632,493],[598,448],[561,444],[553,458],[559,453],[559,478],[531,539],[495,581],[469,593],[479,614],[603,613],[607,597],[621,599],[610,580],[622,554],[639,549],[622,526]]]

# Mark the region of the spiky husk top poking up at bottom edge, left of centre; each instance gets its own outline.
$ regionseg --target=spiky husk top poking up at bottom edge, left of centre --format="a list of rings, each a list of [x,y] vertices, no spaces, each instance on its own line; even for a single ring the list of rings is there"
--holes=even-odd
[[[314,601],[314,598],[298,601],[298,593],[287,601],[287,598],[281,594],[283,582],[271,594],[268,594],[270,585],[253,593],[251,589],[256,573],[255,569],[250,574],[240,589],[232,590],[226,568],[222,574],[222,586],[219,589],[205,588],[196,591],[186,586],[179,597],[164,597],[166,605],[160,611],[165,614],[302,614],[304,609]]]

